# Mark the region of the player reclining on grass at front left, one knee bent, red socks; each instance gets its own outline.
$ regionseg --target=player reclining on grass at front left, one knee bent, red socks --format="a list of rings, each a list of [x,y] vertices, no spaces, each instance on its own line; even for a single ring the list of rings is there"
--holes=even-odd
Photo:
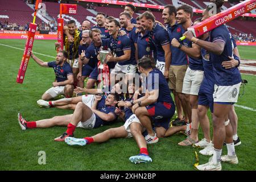
[[[117,94],[108,94],[105,100],[105,105],[97,110],[98,102],[101,100],[101,96],[96,96],[91,106],[85,105],[79,102],[76,105],[76,109],[73,114],[56,116],[51,119],[43,119],[39,121],[28,122],[18,114],[19,125],[22,130],[32,129],[36,127],[52,127],[52,126],[68,126],[67,131],[55,141],[64,141],[66,137],[73,137],[73,133],[76,127],[82,127],[84,129],[94,129],[101,125],[110,124],[117,118],[114,113],[115,105],[118,102]]]

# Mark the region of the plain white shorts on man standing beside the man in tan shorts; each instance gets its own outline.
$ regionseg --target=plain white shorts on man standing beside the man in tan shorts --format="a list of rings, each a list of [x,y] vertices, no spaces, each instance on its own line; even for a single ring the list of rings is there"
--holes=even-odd
[[[183,80],[182,93],[198,96],[203,79],[204,71],[193,70],[188,67]]]

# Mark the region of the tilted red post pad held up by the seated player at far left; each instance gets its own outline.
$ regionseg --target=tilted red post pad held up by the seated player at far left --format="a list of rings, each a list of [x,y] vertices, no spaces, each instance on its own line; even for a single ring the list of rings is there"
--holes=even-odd
[[[28,60],[30,60],[30,52],[32,51],[32,46],[34,43],[36,27],[37,25],[35,23],[30,23],[30,28],[28,30],[27,35],[27,42],[25,45],[22,61],[20,63],[19,72],[16,79],[16,82],[18,82],[19,84],[23,83],[24,76],[27,70]]]

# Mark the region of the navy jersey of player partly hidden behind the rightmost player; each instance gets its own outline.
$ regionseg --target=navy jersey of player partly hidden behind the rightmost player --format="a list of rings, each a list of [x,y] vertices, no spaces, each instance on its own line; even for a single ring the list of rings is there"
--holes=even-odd
[[[201,55],[203,57],[204,79],[200,85],[199,93],[213,94],[215,84],[213,63],[209,60],[209,52],[204,48],[201,48]]]

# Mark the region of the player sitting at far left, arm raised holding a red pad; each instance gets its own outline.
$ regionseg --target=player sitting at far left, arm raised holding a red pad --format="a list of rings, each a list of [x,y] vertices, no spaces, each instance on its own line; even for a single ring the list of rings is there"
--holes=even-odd
[[[66,62],[67,51],[59,51],[56,55],[56,61],[44,62],[31,52],[31,57],[41,67],[52,67],[55,72],[56,79],[52,82],[53,87],[48,89],[42,96],[42,100],[51,100],[60,95],[72,97],[73,94],[73,72],[71,66]]]

